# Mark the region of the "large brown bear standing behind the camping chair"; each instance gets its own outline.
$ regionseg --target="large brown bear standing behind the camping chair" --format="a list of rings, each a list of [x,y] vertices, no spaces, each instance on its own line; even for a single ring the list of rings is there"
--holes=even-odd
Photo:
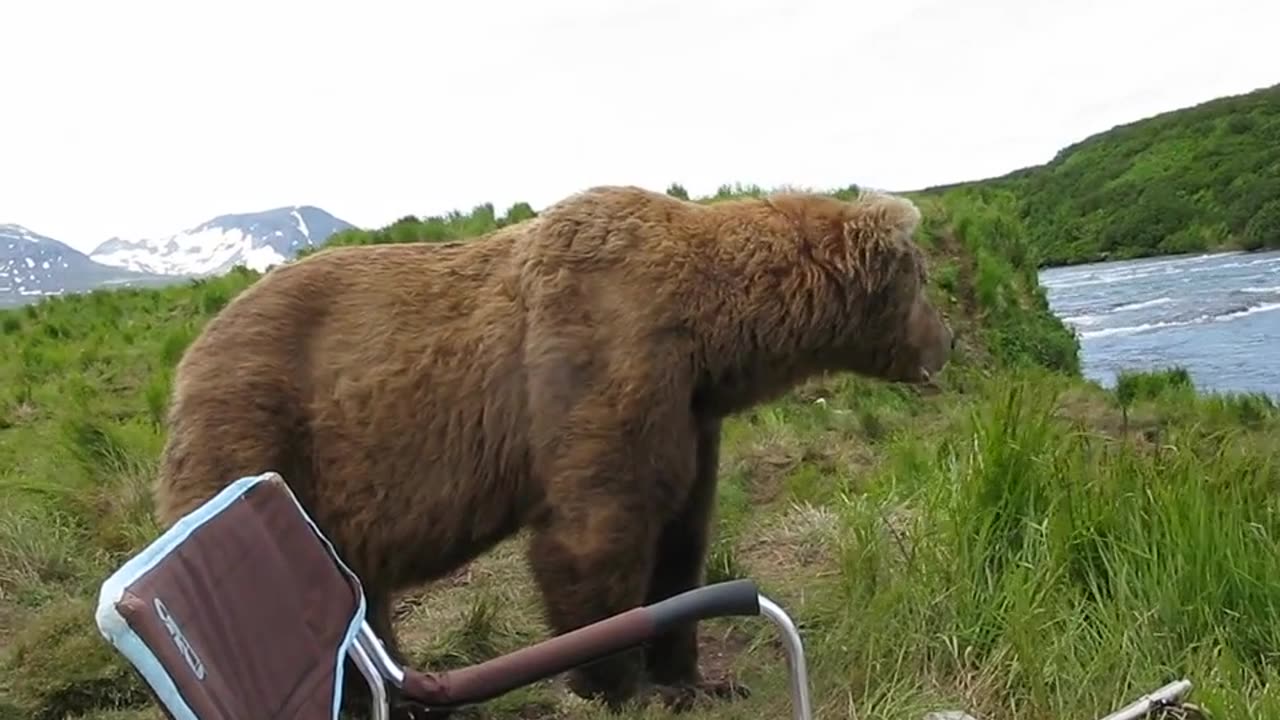
[[[282,473],[397,659],[393,593],[521,528],[556,633],[692,588],[726,415],[815,373],[946,364],[919,220],[890,195],[596,187],[471,241],[275,268],[177,368],[159,519]],[[701,679],[692,626],[570,682],[613,707],[649,683],[736,694]]]

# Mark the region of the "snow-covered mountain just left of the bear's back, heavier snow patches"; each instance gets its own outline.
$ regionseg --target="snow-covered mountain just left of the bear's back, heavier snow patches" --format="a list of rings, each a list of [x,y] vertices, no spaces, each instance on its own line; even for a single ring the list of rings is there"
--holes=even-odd
[[[211,275],[236,265],[262,272],[351,227],[319,208],[296,205],[219,215],[157,240],[113,237],[88,256],[104,265],[147,273]]]

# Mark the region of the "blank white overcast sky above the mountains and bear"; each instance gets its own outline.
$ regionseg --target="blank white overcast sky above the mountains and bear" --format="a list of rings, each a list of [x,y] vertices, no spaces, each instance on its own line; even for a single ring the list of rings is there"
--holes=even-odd
[[[1280,3],[1212,5],[6,0],[0,222],[87,250],[291,204],[987,177],[1280,82]]]

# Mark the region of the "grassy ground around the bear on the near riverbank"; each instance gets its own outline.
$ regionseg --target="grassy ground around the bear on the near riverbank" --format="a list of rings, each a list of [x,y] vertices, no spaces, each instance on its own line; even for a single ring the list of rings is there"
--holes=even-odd
[[[938,706],[1091,717],[1180,674],[1220,715],[1275,716],[1274,407],[1197,397],[1175,374],[1124,383],[1121,413],[1078,379],[1015,200],[922,202],[934,290],[963,332],[948,392],[824,378],[728,423],[712,579],[751,575],[794,614],[819,717],[915,719]],[[442,240],[500,222],[483,206],[337,242]],[[0,314],[0,719],[160,717],[137,706],[92,603],[155,533],[147,489],[170,368],[252,279]],[[406,598],[402,628],[422,665],[543,634],[518,551],[507,543]],[[768,626],[716,621],[704,634],[707,662],[756,692],[695,717],[787,716]],[[516,708],[603,716],[554,683],[486,710]]]

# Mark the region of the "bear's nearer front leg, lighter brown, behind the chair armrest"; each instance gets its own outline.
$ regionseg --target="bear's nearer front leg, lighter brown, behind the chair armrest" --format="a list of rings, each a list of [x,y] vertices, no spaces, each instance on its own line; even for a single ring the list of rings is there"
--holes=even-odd
[[[687,424],[677,424],[678,415],[639,421],[646,410],[618,405],[595,397],[562,421],[540,423],[556,428],[556,437],[535,459],[543,498],[529,523],[529,561],[556,634],[644,605],[658,532],[671,515],[673,496],[664,483],[687,488],[692,480]],[[672,432],[677,427],[684,432]],[[617,710],[648,689],[644,680],[644,650],[635,647],[573,670],[568,685]]]

